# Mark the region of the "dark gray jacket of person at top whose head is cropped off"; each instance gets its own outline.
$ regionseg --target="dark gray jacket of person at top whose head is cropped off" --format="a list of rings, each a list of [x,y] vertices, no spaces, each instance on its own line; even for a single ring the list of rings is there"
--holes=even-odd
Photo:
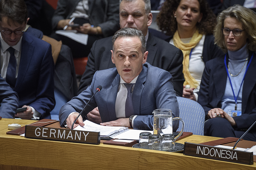
[[[59,0],[52,17],[52,28],[60,20],[69,19],[81,0]],[[88,0],[88,16],[91,25],[100,26],[104,37],[113,35],[119,29],[118,0]]]

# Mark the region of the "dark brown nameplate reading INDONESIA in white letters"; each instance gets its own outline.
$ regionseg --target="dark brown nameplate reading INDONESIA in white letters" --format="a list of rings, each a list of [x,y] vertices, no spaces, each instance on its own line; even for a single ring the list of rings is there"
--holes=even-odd
[[[253,152],[244,152],[185,142],[184,155],[253,165]]]

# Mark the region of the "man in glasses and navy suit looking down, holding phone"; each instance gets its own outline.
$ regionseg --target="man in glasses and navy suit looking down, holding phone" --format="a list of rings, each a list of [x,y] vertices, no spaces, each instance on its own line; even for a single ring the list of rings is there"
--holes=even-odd
[[[24,0],[0,1],[1,76],[18,93],[19,108],[12,117],[50,118],[55,106],[51,45],[25,33],[28,11]]]

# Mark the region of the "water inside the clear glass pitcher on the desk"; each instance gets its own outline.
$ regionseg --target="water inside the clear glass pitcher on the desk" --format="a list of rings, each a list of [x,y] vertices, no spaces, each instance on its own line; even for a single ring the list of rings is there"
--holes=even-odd
[[[170,115],[155,115],[154,116],[154,134],[173,134],[172,133],[172,116]]]

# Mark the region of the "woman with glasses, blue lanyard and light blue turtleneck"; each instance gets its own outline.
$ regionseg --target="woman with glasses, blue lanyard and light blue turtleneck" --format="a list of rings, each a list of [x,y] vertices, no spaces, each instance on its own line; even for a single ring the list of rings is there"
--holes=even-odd
[[[256,14],[235,5],[217,18],[214,37],[226,53],[205,65],[198,102],[205,135],[241,137],[256,121]],[[256,126],[245,140],[256,141]]]

